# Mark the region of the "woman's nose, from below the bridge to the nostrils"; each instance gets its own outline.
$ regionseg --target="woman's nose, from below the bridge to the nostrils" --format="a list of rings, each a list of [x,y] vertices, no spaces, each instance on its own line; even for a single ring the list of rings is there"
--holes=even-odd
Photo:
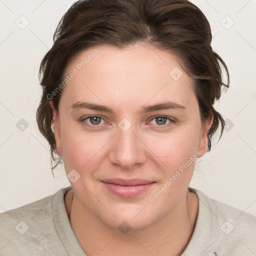
[[[117,127],[116,135],[111,141],[109,160],[123,170],[132,169],[134,165],[144,163],[147,159],[146,146],[134,126],[131,125],[126,131]]]

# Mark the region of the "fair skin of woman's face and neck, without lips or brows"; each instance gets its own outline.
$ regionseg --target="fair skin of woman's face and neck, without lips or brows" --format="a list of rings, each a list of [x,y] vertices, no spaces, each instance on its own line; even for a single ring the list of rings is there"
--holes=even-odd
[[[68,64],[65,75],[94,48],[98,53],[63,88],[58,111],[52,107],[57,152],[63,156],[66,173],[74,169],[80,175],[70,182],[72,190],[65,196],[71,226],[88,256],[179,255],[197,217],[198,198],[188,190],[195,162],[153,202],[149,196],[166,187],[189,157],[206,152],[212,117],[201,123],[194,80],[174,55],[152,45],[86,49]],[[182,71],[177,80],[169,75],[174,67]],[[114,113],[72,109],[78,101],[108,106]],[[164,101],[184,108],[139,112]],[[93,126],[84,119],[88,115],[102,117],[100,124]],[[171,119],[161,124],[155,116]],[[131,124],[126,131],[118,126],[123,118]],[[124,198],[106,189],[101,180],[107,178],[155,183],[135,197]],[[121,223],[129,228],[127,232],[118,228]]]

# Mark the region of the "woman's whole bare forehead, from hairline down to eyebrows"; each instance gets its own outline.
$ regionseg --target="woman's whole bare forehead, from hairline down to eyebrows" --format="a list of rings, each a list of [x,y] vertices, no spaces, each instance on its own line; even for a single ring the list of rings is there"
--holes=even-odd
[[[140,43],[123,49],[110,45],[87,48],[69,63],[66,76],[63,94],[68,94],[65,102],[69,105],[84,98],[132,105],[164,98],[184,104],[194,97],[194,81],[177,57]]]

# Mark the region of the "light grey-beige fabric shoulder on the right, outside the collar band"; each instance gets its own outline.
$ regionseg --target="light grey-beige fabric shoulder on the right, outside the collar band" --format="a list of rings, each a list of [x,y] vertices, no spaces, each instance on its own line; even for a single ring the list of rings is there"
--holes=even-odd
[[[200,224],[209,229],[208,242],[216,255],[256,254],[256,216],[192,190],[199,199]]]

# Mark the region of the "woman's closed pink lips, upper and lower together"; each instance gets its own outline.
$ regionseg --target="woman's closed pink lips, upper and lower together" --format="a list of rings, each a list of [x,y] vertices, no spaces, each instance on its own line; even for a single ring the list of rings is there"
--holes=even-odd
[[[105,179],[102,180],[104,186],[113,194],[131,198],[135,197],[146,190],[148,190],[155,181],[145,180],[145,179],[119,179],[119,178],[112,178],[112,179]]]

